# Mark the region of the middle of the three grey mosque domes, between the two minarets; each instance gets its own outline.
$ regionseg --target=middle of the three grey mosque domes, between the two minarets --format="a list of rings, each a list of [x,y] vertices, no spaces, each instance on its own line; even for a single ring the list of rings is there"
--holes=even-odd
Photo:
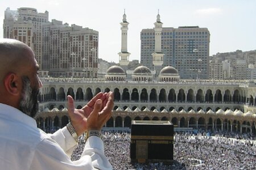
[[[153,76],[151,70],[146,66],[138,66],[133,71],[132,78],[134,81],[152,81]]]

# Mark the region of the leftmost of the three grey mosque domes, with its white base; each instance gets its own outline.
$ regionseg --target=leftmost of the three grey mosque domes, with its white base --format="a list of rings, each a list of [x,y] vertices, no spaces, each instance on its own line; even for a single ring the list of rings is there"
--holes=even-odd
[[[125,77],[125,71],[119,66],[109,67],[105,75],[105,79],[109,81],[124,81]]]

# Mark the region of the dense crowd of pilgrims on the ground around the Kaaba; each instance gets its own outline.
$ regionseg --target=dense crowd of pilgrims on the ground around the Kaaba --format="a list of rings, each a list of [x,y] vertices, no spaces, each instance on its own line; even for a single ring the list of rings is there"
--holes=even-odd
[[[192,131],[175,133],[174,163],[131,163],[130,132],[102,131],[105,155],[113,169],[256,169],[255,137],[235,133]],[[80,158],[84,136],[72,154]]]

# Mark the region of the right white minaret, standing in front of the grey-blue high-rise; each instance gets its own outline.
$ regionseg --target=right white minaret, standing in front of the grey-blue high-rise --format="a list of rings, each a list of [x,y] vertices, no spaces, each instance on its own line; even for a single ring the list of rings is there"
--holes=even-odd
[[[160,21],[160,15],[158,11],[158,15],[156,16],[155,25],[155,52],[152,53],[153,56],[153,65],[156,71],[156,76],[159,75],[160,70],[162,69],[163,65],[163,57],[164,53],[162,53],[162,25],[163,23]]]

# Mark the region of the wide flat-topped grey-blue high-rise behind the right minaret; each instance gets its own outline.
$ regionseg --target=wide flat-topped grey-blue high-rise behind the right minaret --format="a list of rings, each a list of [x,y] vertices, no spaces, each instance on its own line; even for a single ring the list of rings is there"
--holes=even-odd
[[[209,71],[209,41],[207,28],[162,28],[163,66],[174,66],[183,79],[205,79]],[[141,63],[154,69],[154,29],[141,31]]]

